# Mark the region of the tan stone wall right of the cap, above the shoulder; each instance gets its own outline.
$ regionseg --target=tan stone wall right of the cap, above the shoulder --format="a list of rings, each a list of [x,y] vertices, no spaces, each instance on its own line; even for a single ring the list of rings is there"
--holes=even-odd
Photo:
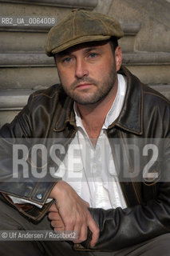
[[[140,27],[135,37],[120,40],[123,49],[127,46],[124,64],[142,82],[170,98],[170,3],[166,0],[107,2],[107,14],[116,17],[129,30],[132,26]],[[103,10],[103,5],[105,1],[100,1],[96,10]]]

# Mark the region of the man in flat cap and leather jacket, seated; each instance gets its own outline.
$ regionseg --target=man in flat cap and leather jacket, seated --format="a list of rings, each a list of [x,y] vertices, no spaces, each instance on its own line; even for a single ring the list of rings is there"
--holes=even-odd
[[[54,175],[48,172],[38,180],[34,173],[26,179],[19,173],[14,180],[2,139],[1,230],[50,230],[51,225],[76,231],[77,239],[2,241],[2,255],[169,254],[169,102],[121,66],[117,39],[122,36],[116,20],[85,10],[73,10],[49,31],[45,50],[55,58],[61,86],[31,95],[18,117],[2,127],[1,136],[26,142],[57,138],[65,146],[57,156],[66,173],[61,180],[62,167],[57,165]],[[87,159],[82,149],[84,142],[93,166],[89,151]],[[77,155],[83,165],[77,175],[84,179],[72,182],[67,159],[74,143],[80,146]],[[138,146],[143,149],[140,165],[135,162]],[[147,153],[155,158],[150,169]],[[100,175],[91,170],[100,170]]]

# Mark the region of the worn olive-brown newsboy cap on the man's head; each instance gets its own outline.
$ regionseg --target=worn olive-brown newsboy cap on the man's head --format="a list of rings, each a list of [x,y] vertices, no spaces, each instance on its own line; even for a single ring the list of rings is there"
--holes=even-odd
[[[124,35],[120,23],[105,14],[86,10],[72,10],[56,26],[49,30],[45,53],[49,56],[82,42],[103,41]]]

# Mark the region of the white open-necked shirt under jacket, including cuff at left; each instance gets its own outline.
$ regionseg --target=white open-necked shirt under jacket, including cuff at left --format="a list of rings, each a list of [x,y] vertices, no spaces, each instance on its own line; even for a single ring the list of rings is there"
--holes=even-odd
[[[77,194],[94,208],[99,207],[107,210],[118,206],[126,207],[106,134],[108,127],[121,113],[125,93],[125,77],[118,74],[117,96],[105,118],[95,148],[82,125],[76,105],[74,105],[78,127],[77,134],[69,146],[64,161],[59,166],[56,176],[60,176],[65,182],[68,182]],[[29,202],[12,196],[10,198],[14,203]],[[39,206],[38,204],[35,205]]]

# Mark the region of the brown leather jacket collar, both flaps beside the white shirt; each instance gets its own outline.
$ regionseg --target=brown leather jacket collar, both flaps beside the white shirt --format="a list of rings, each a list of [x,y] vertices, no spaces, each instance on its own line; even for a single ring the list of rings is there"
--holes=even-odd
[[[121,66],[120,74],[127,78],[127,90],[125,102],[121,110],[121,114],[113,122],[113,126],[119,126],[123,130],[127,130],[133,134],[142,134],[142,117],[143,117],[143,94],[140,86],[140,80],[132,75],[125,66]],[[61,113],[58,116],[55,131],[65,130],[67,124],[77,129],[75,114],[73,111],[73,100],[66,97],[64,105],[61,107]]]

